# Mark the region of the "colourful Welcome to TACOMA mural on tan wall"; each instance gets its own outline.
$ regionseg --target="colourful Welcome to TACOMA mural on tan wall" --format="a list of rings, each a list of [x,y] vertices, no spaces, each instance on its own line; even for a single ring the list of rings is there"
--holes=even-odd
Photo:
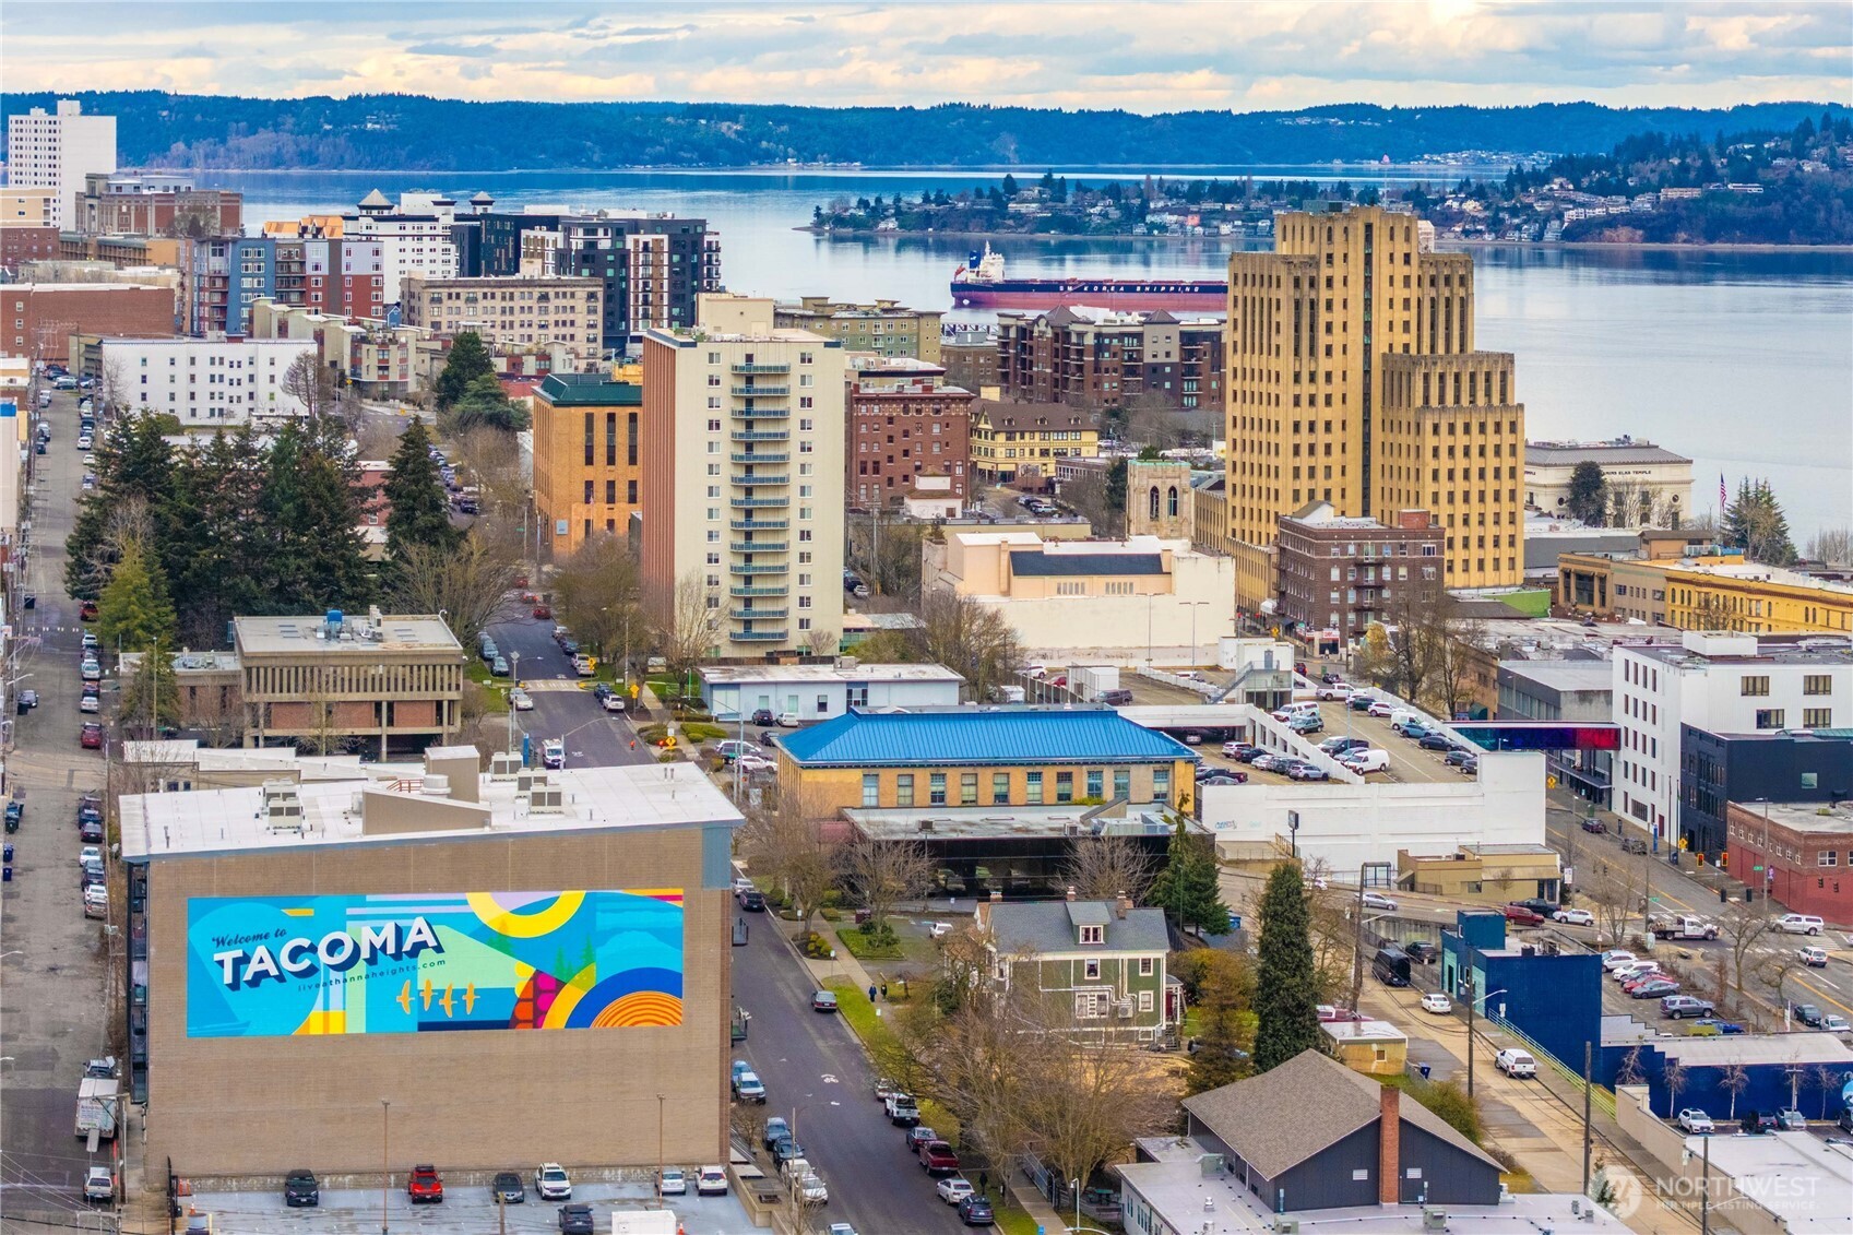
[[[187,901],[187,1037],[682,1024],[682,888]]]

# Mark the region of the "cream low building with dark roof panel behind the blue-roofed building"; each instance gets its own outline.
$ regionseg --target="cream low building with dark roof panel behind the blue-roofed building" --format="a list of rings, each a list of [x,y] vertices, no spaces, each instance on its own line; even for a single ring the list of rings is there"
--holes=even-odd
[[[949,530],[921,553],[923,590],[995,606],[1034,658],[1212,664],[1236,616],[1234,558],[1188,540]]]

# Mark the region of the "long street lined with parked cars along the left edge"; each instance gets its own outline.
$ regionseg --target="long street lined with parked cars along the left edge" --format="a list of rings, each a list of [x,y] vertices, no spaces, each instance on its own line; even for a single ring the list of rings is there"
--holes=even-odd
[[[104,923],[85,918],[78,894],[76,805],[104,781],[102,751],[78,745],[78,664],[83,625],[65,595],[65,536],[89,454],[76,449],[74,393],[57,393],[35,419],[52,445],[33,456],[32,556],[20,610],[15,677],[6,697],[37,690],[39,707],[6,716],[13,749],[7,790],[24,790],[13,879],[0,886],[0,1209],[6,1229],[69,1228],[87,1213],[80,1185],[91,1155],[72,1135],[83,1061],[106,1053]],[[106,692],[107,694],[107,692]],[[109,1161],[104,1142],[96,1161]],[[41,1226],[48,1224],[48,1226]]]

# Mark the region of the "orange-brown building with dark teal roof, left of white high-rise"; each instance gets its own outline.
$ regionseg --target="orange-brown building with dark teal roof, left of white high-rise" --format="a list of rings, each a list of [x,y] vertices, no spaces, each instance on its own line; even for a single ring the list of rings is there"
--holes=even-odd
[[[554,560],[597,534],[626,536],[641,510],[643,386],[548,373],[534,391],[534,504]]]

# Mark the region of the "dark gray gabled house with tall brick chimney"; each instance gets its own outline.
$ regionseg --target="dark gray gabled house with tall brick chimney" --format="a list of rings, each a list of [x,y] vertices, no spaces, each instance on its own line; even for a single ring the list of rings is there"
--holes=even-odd
[[[1497,1205],[1499,1163],[1401,1090],[1305,1051],[1184,1100],[1186,1135],[1267,1209]]]

